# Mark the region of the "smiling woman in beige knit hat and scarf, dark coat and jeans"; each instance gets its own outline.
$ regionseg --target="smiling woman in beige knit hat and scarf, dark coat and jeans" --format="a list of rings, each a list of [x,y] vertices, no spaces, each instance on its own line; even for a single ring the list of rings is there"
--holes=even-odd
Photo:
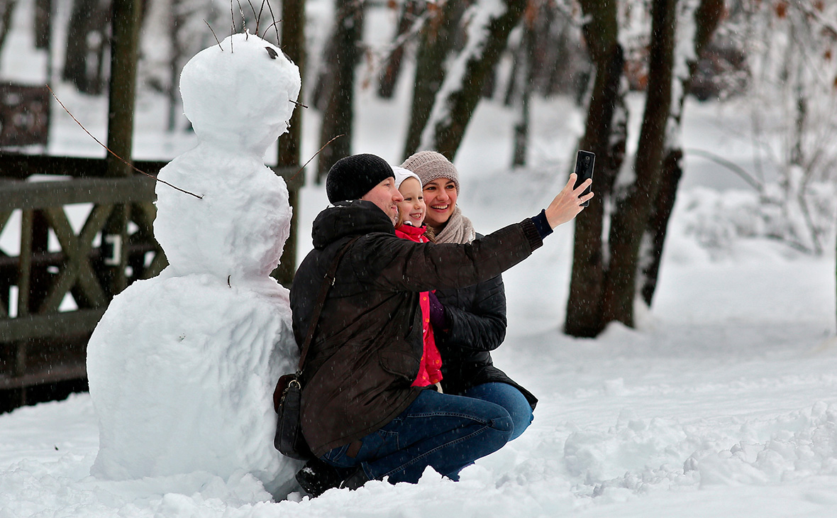
[[[401,167],[416,173],[424,186],[427,215],[437,243],[470,243],[477,237],[470,220],[456,207],[459,173],[435,151],[419,151]],[[444,392],[476,397],[506,408],[514,422],[511,439],[532,420],[537,397],[491,362],[490,351],[506,338],[506,290],[501,276],[431,296],[431,321],[442,354]],[[511,440],[510,439],[510,440]]]

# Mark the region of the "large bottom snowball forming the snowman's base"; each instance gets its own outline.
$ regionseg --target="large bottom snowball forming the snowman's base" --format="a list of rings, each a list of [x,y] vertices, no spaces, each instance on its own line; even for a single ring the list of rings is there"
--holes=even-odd
[[[287,292],[276,288],[269,296],[212,275],[162,274],[113,300],[88,356],[100,425],[91,474],[228,480],[244,470],[271,493],[292,479],[297,463],[273,446],[272,388],[296,349]]]

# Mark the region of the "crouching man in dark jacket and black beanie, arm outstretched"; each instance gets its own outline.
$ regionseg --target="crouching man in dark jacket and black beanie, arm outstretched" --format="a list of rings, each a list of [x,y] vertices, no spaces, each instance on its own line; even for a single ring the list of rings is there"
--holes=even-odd
[[[306,338],[326,271],[342,256],[302,372],[302,431],[318,457],[296,475],[320,495],[367,480],[417,482],[431,466],[457,480],[460,469],[510,438],[499,405],[412,387],[422,355],[419,292],[490,279],[542,246],[552,228],[573,219],[590,182],[562,192],[535,218],[471,244],[418,244],[395,236],[392,168],[374,155],[347,156],[326,178],[334,204],[314,221],[314,249],[290,290],[294,334]]]

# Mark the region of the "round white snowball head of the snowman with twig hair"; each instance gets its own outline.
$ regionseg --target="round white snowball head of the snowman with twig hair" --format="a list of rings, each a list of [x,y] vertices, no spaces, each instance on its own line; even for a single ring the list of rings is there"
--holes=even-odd
[[[200,140],[262,156],[287,131],[300,71],[270,42],[233,34],[189,60],[180,92]]]

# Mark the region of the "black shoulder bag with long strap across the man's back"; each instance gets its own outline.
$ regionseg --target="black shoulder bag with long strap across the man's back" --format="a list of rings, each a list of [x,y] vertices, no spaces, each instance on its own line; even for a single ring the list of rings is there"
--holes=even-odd
[[[352,243],[357,241],[359,237],[352,238],[351,241],[343,246],[331,262],[331,267],[326,273],[325,280],[323,280],[314,311],[311,314],[311,324],[308,326],[306,341],[302,346],[302,351],[300,351],[300,363],[296,367],[296,372],[280,377],[273,391],[273,406],[278,414],[273,445],[281,454],[291,459],[308,460],[314,458],[314,454],[311,453],[311,448],[308,447],[306,438],[302,435],[300,422],[302,384],[300,383],[300,376],[302,375],[302,367],[306,362],[308,347],[311,346],[311,339],[314,337],[314,330],[316,330],[317,322],[320,320],[322,306],[326,304],[328,289],[334,285],[337,264],[340,263],[343,254],[346,254],[346,251],[352,246]]]

